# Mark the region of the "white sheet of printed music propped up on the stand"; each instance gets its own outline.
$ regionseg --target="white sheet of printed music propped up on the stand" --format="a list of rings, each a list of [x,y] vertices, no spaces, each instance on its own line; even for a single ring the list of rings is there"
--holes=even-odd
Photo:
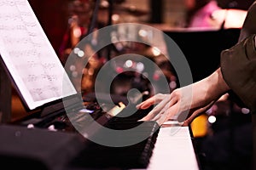
[[[29,109],[76,94],[27,0],[1,0],[0,54]]]

